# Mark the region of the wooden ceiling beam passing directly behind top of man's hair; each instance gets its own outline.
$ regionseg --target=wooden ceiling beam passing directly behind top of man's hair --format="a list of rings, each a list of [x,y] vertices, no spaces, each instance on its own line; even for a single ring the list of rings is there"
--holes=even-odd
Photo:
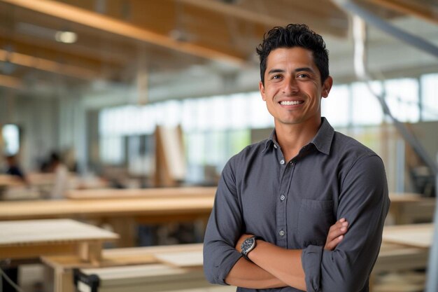
[[[292,19],[278,18],[271,15],[259,13],[257,11],[250,11],[247,8],[240,7],[238,5],[225,4],[220,1],[214,0],[176,0],[183,4],[188,4],[192,6],[197,6],[209,11],[216,11],[224,15],[232,16],[241,20],[245,20],[250,23],[255,23],[257,25],[264,25],[265,27],[271,28],[279,25],[287,25],[292,22]],[[268,4],[271,5],[271,4]],[[297,15],[298,18],[298,15]],[[316,17],[315,17],[316,18]],[[328,21],[328,20],[327,20]],[[296,20],[295,22],[299,22]],[[327,34],[332,34],[333,36],[346,36],[347,29],[339,29],[337,27],[332,27],[327,25],[324,20],[310,21],[312,29],[317,32],[325,32]]]

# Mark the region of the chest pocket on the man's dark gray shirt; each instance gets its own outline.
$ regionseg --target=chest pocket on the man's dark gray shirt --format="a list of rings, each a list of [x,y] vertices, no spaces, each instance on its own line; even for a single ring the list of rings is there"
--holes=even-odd
[[[297,231],[304,247],[324,246],[328,230],[334,224],[334,202],[302,199],[299,206]]]

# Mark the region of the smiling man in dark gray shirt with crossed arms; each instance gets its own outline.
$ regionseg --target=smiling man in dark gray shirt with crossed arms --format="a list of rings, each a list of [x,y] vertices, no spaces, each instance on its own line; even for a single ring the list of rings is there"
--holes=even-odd
[[[321,36],[275,27],[257,53],[275,130],[222,171],[206,278],[237,291],[369,291],[390,204],[383,162],[320,116],[332,88]]]

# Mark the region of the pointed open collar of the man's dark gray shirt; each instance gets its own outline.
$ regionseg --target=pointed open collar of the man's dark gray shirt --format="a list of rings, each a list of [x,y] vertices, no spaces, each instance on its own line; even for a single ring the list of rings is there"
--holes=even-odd
[[[319,127],[319,130],[310,143],[315,145],[316,149],[318,149],[318,151],[320,151],[321,153],[329,155],[330,148],[332,146],[333,136],[334,136],[334,129],[332,125],[330,125],[328,120],[323,117],[321,118],[321,125]],[[266,144],[264,144],[264,149],[262,152],[266,151],[267,148],[274,145],[280,147],[278,146],[277,143],[275,129],[272,130],[271,134],[269,135]]]

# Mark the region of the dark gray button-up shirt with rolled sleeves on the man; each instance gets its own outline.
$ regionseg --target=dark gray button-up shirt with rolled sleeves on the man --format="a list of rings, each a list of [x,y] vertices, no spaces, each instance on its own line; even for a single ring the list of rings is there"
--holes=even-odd
[[[222,171],[204,238],[204,273],[212,283],[225,284],[241,257],[235,243],[248,233],[285,249],[303,249],[307,291],[368,291],[389,204],[381,158],[334,132],[325,118],[290,161],[274,131],[232,157]],[[336,249],[325,251],[327,232],[340,218],[348,221],[348,232]]]

